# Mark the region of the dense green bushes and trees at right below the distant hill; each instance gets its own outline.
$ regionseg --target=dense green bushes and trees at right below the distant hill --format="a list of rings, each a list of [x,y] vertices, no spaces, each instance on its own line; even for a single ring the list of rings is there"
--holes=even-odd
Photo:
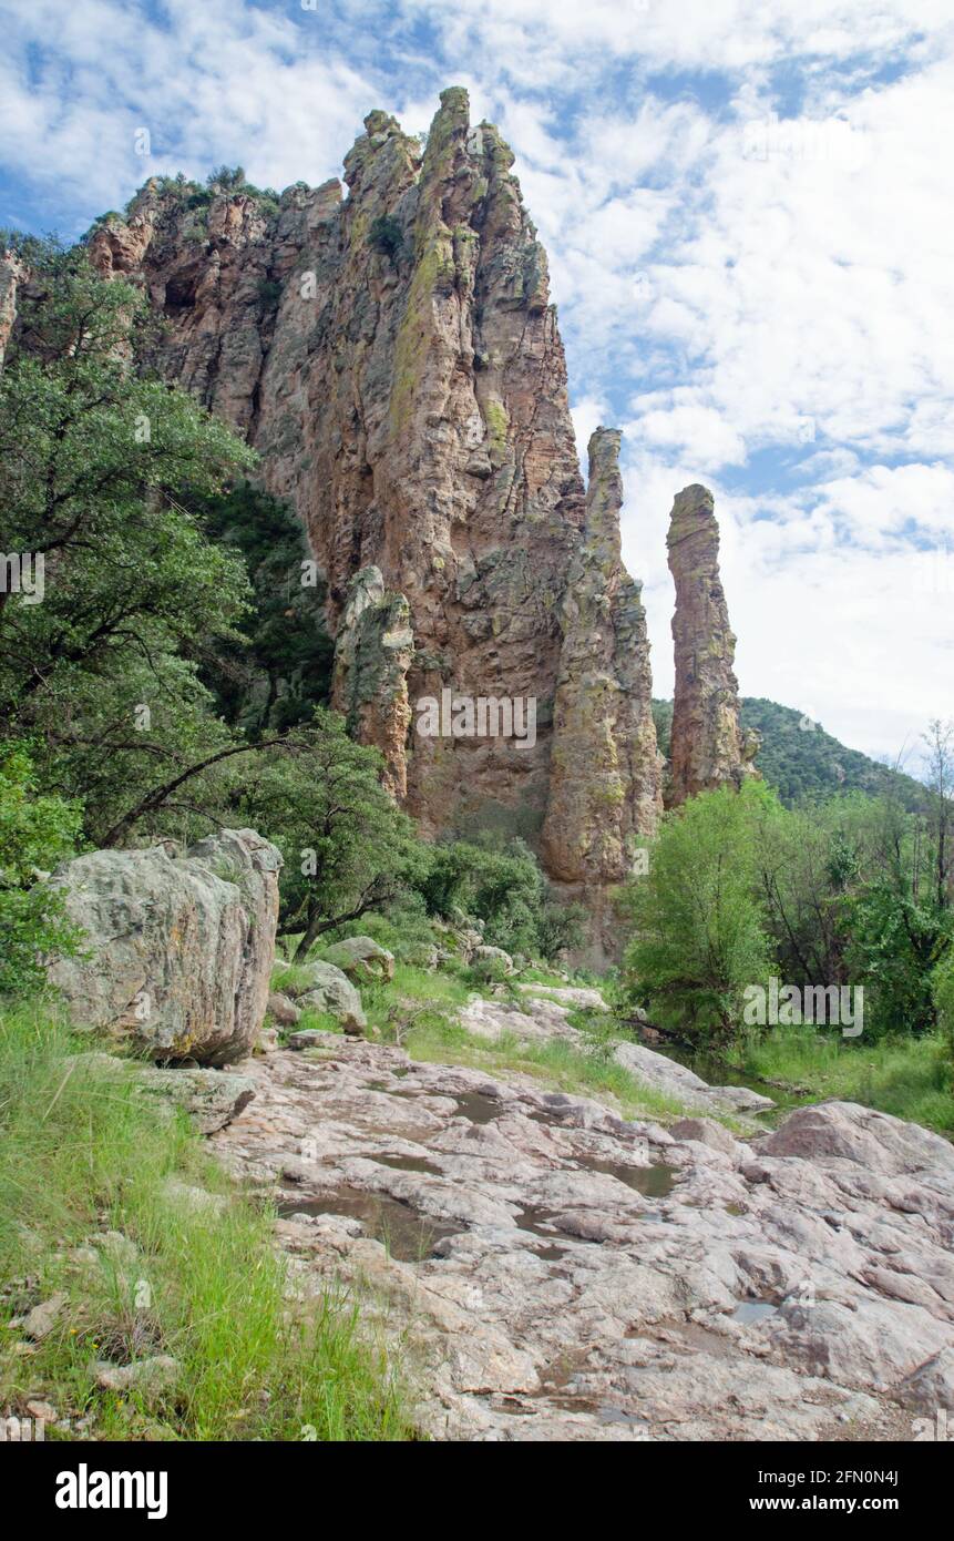
[[[923,812],[857,792],[788,809],[749,783],[669,814],[624,895],[632,999],[677,1036],[726,1045],[757,1025],[751,991],[772,979],[860,986],[866,1039],[936,1032],[939,1011],[949,1020],[952,741],[932,724]]]

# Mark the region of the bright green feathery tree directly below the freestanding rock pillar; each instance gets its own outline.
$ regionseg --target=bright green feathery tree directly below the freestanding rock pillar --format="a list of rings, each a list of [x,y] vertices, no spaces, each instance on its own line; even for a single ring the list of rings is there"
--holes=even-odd
[[[727,1042],[744,989],[768,982],[772,945],[757,898],[755,817],[771,804],[757,783],[690,798],[666,815],[649,872],[626,905],[633,997],[663,1028],[700,1043]]]

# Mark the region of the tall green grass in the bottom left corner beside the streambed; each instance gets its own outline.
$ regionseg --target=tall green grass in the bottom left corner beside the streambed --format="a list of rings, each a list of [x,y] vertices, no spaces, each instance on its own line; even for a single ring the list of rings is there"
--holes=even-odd
[[[359,1302],[293,1305],[271,1213],[236,1193],[182,1117],[134,1094],[133,1068],[126,1082],[76,1049],[49,1014],[0,1014],[0,1412],[42,1396],[74,1422],[92,1413],[106,1439],[415,1438]],[[190,1208],[171,1177],[227,1202]],[[119,1254],[106,1231],[125,1237]],[[14,1353],[11,1319],[57,1291],[54,1330]],[[96,1387],[97,1359],[154,1355],[179,1364],[159,1398]]]

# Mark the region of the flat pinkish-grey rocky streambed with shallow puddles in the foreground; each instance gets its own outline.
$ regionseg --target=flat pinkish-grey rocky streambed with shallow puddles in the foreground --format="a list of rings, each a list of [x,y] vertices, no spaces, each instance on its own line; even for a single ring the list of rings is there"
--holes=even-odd
[[[242,1071],[213,1147],[302,1298],[362,1290],[433,1436],[911,1439],[954,1405],[954,1148],[917,1125],[666,1128],[333,1036]]]

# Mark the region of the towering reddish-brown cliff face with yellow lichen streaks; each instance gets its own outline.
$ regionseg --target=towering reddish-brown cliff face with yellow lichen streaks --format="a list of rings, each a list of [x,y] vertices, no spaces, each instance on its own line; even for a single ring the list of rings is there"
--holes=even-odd
[[[297,509],[334,701],[424,832],[543,828],[555,875],[616,880],[660,811],[618,436],[590,447],[587,499],[547,260],[496,129],[470,126],[461,89],[424,153],[384,112],[365,128],[347,197],[297,183],[276,213],[146,183],[92,260],[145,284],[166,321],[154,362]],[[442,690],[536,698],[535,735],[418,734],[415,703]]]

